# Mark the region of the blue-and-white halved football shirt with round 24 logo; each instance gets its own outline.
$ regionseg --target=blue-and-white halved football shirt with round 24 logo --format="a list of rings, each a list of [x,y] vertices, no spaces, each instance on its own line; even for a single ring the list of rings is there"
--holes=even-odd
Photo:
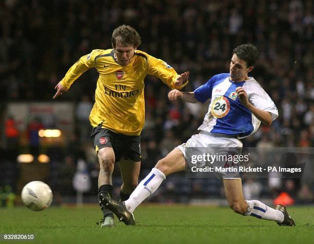
[[[202,103],[211,98],[208,112],[198,130],[239,139],[258,130],[261,121],[241,103],[235,93],[237,87],[244,88],[254,107],[270,112],[272,120],[278,117],[276,105],[253,77],[243,82],[231,82],[229,73],[217,74],[194,90],[195,98]]]

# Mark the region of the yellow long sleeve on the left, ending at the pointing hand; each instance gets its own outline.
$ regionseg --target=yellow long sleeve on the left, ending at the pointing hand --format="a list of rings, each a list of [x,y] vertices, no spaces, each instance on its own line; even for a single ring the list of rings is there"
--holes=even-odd
[[[61,80],[61,84],[68,90],[78,77],[90,68],[95,67],[95,56],[97,56],[100,51],[101,50],[93,50],[91,53],[78,59]]]

